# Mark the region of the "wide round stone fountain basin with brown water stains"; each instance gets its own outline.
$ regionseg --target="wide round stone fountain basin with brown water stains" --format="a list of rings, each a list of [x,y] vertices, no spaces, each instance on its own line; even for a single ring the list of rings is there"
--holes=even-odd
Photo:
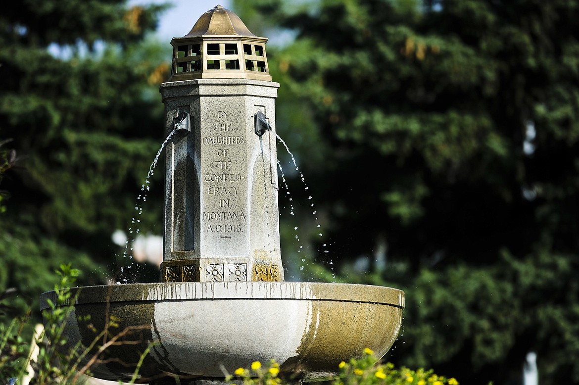
[[[72,289],[64,349],[89,349],[113,316],[112,344],[90,368],[107,380],[129,380],[142,351],[154,343],[140,382],[163,376],[222,379],[252,361],[279,362],[281,373],[314,380],[335,375],[340,361],[364,348],[382,357],[400,332],[404,292],[358,284],[188,282]],[[49,311],[41,295],[41,310]],[[64,306],[64,305],[63,305]],[[90,318],[90,319],[87,319]],[[85,357],[88,362],[97,347]]]

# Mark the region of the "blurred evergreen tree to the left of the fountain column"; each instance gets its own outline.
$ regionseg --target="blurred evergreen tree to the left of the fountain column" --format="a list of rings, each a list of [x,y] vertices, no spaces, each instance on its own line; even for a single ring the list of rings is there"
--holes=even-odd
[[[115,262],[122,250],[111,234],[130,226],[163,141],[157,90],[170,50],[144,38],[164,8],[124,0],[3,7],[0,138],[20,159],[2,181],[10,197],[2,201],[0,287],[36,302],[62,262],[83,270],[81,284],[102,284],[115,263],[128,264]],[[145,207],[141,229],[159,234],[162,182],[153,184],[159,205]]]

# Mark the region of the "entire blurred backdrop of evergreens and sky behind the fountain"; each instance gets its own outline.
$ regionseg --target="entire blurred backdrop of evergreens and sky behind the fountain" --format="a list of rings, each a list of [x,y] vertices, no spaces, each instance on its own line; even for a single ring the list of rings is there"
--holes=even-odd
[[[35,311],[62,262],[81,285],[158,280],[163,162],[135,203],[164,140],[159,85],[171,37],[215,5],[3,7],[0,289]],[[579,3],[222,5],[270,38],[299,166],[278,146],[288,280],[404,289],[397,365],[578,384]]]

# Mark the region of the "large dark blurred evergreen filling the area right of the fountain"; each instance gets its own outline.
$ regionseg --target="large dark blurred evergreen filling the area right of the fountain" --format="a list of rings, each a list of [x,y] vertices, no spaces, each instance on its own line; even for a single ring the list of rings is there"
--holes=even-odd
[[[236,5],[295,35],[268,53],[314,266],[406,291],[389,360],[516,383],[535,351],[541,384],[579,383],[579,5]]]

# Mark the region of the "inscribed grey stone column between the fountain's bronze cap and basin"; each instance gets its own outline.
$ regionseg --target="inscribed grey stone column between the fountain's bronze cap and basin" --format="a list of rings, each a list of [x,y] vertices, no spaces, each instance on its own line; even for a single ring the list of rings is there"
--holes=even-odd
[[[196,79],[161,85],[166,134],[189,113],[166,149],[161,278],[281,281],[276,138],[255,134],[261,111],[275,131],[278,83]]]

